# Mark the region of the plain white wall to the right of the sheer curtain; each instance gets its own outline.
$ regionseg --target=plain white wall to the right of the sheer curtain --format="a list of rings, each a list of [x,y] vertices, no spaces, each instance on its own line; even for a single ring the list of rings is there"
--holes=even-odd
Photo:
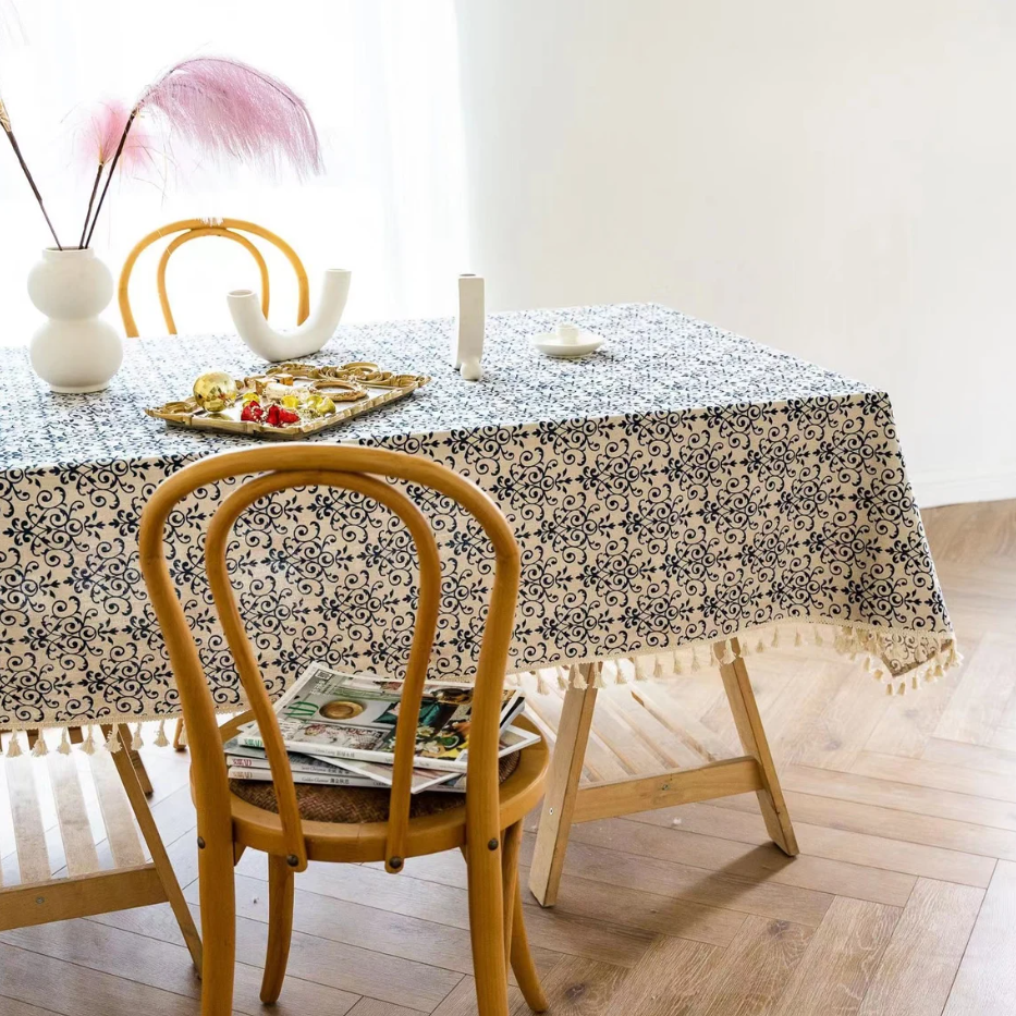
[[[460,0],[494,309],[659,301],[884,388],[1016,497],[1016,3]]]

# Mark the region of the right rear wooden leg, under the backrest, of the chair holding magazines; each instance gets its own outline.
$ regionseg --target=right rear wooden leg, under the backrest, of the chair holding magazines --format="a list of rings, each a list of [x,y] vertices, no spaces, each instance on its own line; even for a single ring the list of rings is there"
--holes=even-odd
[[[485,842],[470,842],[465,853],[477,1008],[479,1016],[509,1016],[501,858]]]

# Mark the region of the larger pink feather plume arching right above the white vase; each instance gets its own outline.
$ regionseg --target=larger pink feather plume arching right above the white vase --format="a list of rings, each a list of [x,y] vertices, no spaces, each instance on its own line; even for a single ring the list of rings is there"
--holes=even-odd
[[[159,113],[171,132],[222,161],[269,172],[289,162],[299,176],[322,169],[318,134],[303,99],[240,60],[184,60],[148,86],[137,109]]]

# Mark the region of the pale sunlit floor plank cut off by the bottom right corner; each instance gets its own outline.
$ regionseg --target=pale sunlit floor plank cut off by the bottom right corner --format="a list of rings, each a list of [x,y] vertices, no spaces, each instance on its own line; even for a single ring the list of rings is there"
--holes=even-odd
[[[1016,864],[999,861],[943,1016],[1016,1013]]]

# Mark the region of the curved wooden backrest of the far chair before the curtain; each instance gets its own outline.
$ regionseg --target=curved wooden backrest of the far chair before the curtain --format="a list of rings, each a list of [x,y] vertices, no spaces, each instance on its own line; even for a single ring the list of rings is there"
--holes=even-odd
[[[131,310],[131,298],[127,287],[131,283],[131,272],[134,270],[134,264],[137,261],[142,252],[158,240],[166,236],[172,236],[173,233],[182,235],[173,238],[162,252],[159,258],[158,274],[156,277],[159,289],[159,303],[162,305],[162,317],[166,320],[166,328],[171,335],[176,334],[176,322],[173,320],[173,311],[170,309],[169,296],[166,292],[166,267],[173,252],[178,250],[185,243],[197,240],[200,236],[222,236],[225,240],[232,240],[238,243],[245,250],[249,252],[258,267],[261,276],[261,313],[268,317],[268,307],[270,302],[270,292],[268,283],[268,266],[261,252],[243,234],[253,233],[260,236],[269,243],[274,244],[289,259],[296,272],[296,285],[298,291],[298,301],[296,305],[296,323],[303,325],[310,314],[310,287],[307,283],[307,272],[304,270],[304,264],[297,257],[296,252],[281,237],[277,236],[270,230],[266,230],[256,222],[246,222],[243,219],[221,219],[216,223],[205,222],[201,219],[181,219],[179,222],[170,222],[161,229],[149,233],[144,240],[135,244],[134,249],[127,255],[123,262],[123,270],[120,272],[120,284],[118,286],[118,298],[120,301],[120,316],[123,318],[123,328],[128,339],[137,338],[137,322],[134,320],[134,314]]]

